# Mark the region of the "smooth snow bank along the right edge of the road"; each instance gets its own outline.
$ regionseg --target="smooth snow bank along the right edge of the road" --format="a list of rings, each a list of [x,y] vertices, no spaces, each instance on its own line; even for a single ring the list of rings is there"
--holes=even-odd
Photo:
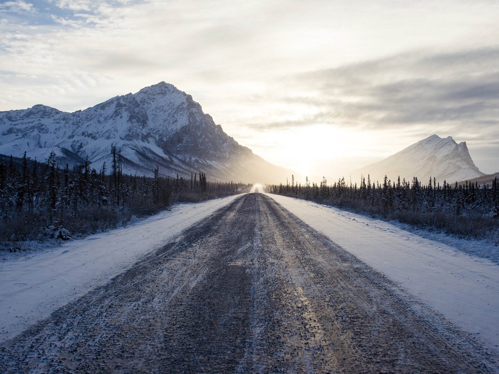
[[[499,265],[388,222],[268,196],[499,353]]]

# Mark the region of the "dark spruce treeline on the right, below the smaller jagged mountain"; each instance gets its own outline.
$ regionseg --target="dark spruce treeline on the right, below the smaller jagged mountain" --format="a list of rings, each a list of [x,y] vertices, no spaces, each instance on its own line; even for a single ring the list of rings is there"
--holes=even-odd
[[[328,184],[291,183],[266,185],[271,193],[294,196],[339,208],[369,214],[385,220],[398,220],[417,228],[436,229],[458,237],[492,239],[499,245],[499,181],[492,186],[468,183],[443,185],[430,178],[423,184],[414,177],[411,182],[386,176],[380,184],[371,183],[369,176],[359,185],[344,178]]]

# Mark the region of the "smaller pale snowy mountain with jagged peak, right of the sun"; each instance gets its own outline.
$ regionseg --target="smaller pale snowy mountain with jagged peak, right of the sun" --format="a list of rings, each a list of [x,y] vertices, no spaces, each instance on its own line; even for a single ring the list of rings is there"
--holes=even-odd
[[[466,142],[457,144],[452,137],[445,139],[432,135],[397,152],[382,161],[352,172],[352,177],[367,175],[371,181],[383,181],[385,175],[392,181],[414,176],[426,184],[430,177],[437,182],[455,183],[485,175],[473,163]]]

